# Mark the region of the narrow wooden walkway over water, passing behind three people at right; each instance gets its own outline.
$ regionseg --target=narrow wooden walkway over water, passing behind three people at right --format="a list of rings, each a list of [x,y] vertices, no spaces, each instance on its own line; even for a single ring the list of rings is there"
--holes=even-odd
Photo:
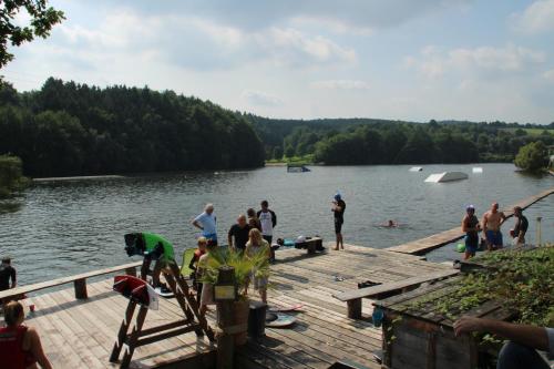
[[[548,188],[546,191],[543,191],[542,193],[530,196],[525,199],[522,199],[521,202],[513,204],[512,206],[506,207],[503,209],[504,214],[506,217],[513,216],[513,208],[515,206],[521,206],[522,208],[527,208],[534,203],[543,199],[544,197],[547,197],[554,193],[554,187]],[[417,240],[411,240],[409,243],[398,245],[398,246],[392,246],[387,248],[388,250],[396,252],[396,253],[402,253],[402,254],[411,254],[411,255],[423,255],[425,253],[429,253],[430,250],[434,248],[439,248],[441,246],[451,244],[460,238],[462,238],[464,234],[461,230],[461,227],[458,226],[455,228],[444,230],[441,233],[438,233],[435,235],[424,237],[421,239]]]

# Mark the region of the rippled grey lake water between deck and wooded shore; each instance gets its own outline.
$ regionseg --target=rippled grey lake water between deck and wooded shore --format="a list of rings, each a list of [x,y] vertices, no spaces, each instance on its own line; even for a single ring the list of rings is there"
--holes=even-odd
[[[267,167],[37,184],[18,211],[0,214],[0,254],[13,258],[20,284],[30,284],[135,260],[123,250],[129,232],[162,234],[181,253],[195,245],[191,221],[207,202],[215,205],[219,239],[225,239],[236,216],[248,207],[257,209],[261,199],[277,213],[277,237],[320,235],[332,240],[330,202],[337,189],[347,203],[345,240],[384,248],[458,226],[468,204],[481,216],[491,202],[507,206],[554,186],[554,177],[526,176],[511,164],[479,166],[482,174],[472,174],[472,165],[428,165],[420,173],[400,165],[315,166],[301,174]],[[463,171],[470,178],[423,182],[443,171]],[[550,196],[526,212],[527,240],[535,240],[536,216],[543,217],[543,240],[554,240],[553,205]],[[400,227],[380,227],[387,219]],[[450,245],[428,257],[440,262],[460,255]]]

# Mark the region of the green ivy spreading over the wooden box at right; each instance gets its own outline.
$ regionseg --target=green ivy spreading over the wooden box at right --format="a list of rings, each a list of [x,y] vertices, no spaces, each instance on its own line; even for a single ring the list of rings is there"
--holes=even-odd
[[[488,300],[514,312],[521,324],[552,327],[554,324],[554,247],[488,253],[472,260],[486,268],[459,279],[444,296],[425,296],[411,308],[430,309],[455,320]]]

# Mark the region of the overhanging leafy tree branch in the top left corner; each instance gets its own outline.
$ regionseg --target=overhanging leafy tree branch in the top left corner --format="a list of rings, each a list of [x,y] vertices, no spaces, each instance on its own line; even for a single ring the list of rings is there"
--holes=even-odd
[[[63,12],[48,6],[47,0],[3,0],[0,9],[0,69],[13,60],[8,52],[8,43],[19,47],[35,37],[45,39],[50,30],[63,19]],[[28,25],[16,24],[14,18],[20,11],[30,16]]]

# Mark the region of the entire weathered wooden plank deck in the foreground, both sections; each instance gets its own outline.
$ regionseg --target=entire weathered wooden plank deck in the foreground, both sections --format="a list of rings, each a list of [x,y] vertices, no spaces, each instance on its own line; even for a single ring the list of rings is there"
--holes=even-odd
[[[379,368],[372,351],[381,348],[381,330],[366,320],[346,317],[346,304],[331,295],[356,289],[368,279],[380,283],[401,280],[421,273],[449,267],[419,257],[346,245],[346,250],[307,255],[306,250],[277,252],[271,266],[269,305],[304,304],[294,314],[297,322],[289,329],[266,329],[259,342],[249,342],[237,353],[237,368],[328,368],[339,360]],[[336,278],[339,277],[339,278]],[[337,280],[339,279],[339,280]],[[342,280],[340,280],[342,279]],[[257,298],[257,296],[253,296]],[[54,368],[113,368],[107,360],[127,300],[112,291],[112,280],[89,285],[89,298],[76,300],[72,289],[53,291],[31,300],[37,306],[29,326],[39,329],[44,349]],[[371,314],[372,300],[363,300],[363,311]],[[215,310],[215,309],[214,309]],[[181,309],[175,299],[162,299],[161,309],[151,311],[145,327],[176,320]],[[215,311],[208,314],[214,326]],[[188,361],[215,348],[194,334],[174,337],[136,349],[132,367],[209,368],[213,358]]]

